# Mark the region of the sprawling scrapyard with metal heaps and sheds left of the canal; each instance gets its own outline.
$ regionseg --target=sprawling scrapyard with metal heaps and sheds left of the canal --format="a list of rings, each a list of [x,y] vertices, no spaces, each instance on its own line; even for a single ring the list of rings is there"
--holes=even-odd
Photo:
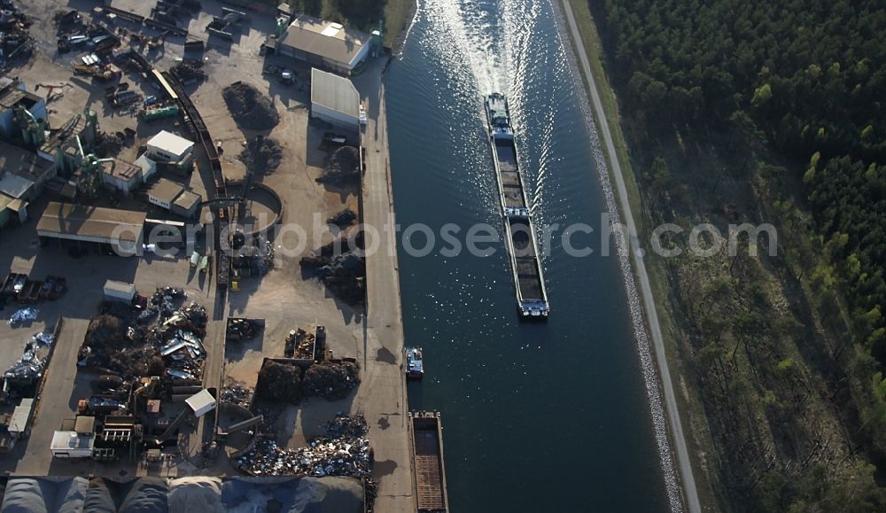
[[[326,249],[362,219],[357,89],[269,46],[287,27],[273,9],[3,4],[25,46],[0,84],[0,468],[344,476],[363,508],[379,495],[414,510],[406,424],[391,456],[373,441],[385,423],[362,416],[406,408],[402,370],[369,354],[367,264]],[[322,24],[278,39],[328,36]],[[356,51],[327,67],[369,67],[360,80],[377,90],[369,35],[342,32]],[[321,80],[338,91],[323,104]],[[275,233],[318,222],[307,244]],[[370,391],[378,365],[400,378]],[[373,452],[400,460],[395,482],[373,474]]]

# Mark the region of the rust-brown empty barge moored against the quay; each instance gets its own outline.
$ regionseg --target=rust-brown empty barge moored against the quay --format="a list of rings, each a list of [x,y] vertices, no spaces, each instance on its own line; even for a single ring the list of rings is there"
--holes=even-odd
[[[436,412],[409,412],[419,513],[448,513],[443,426]]]

